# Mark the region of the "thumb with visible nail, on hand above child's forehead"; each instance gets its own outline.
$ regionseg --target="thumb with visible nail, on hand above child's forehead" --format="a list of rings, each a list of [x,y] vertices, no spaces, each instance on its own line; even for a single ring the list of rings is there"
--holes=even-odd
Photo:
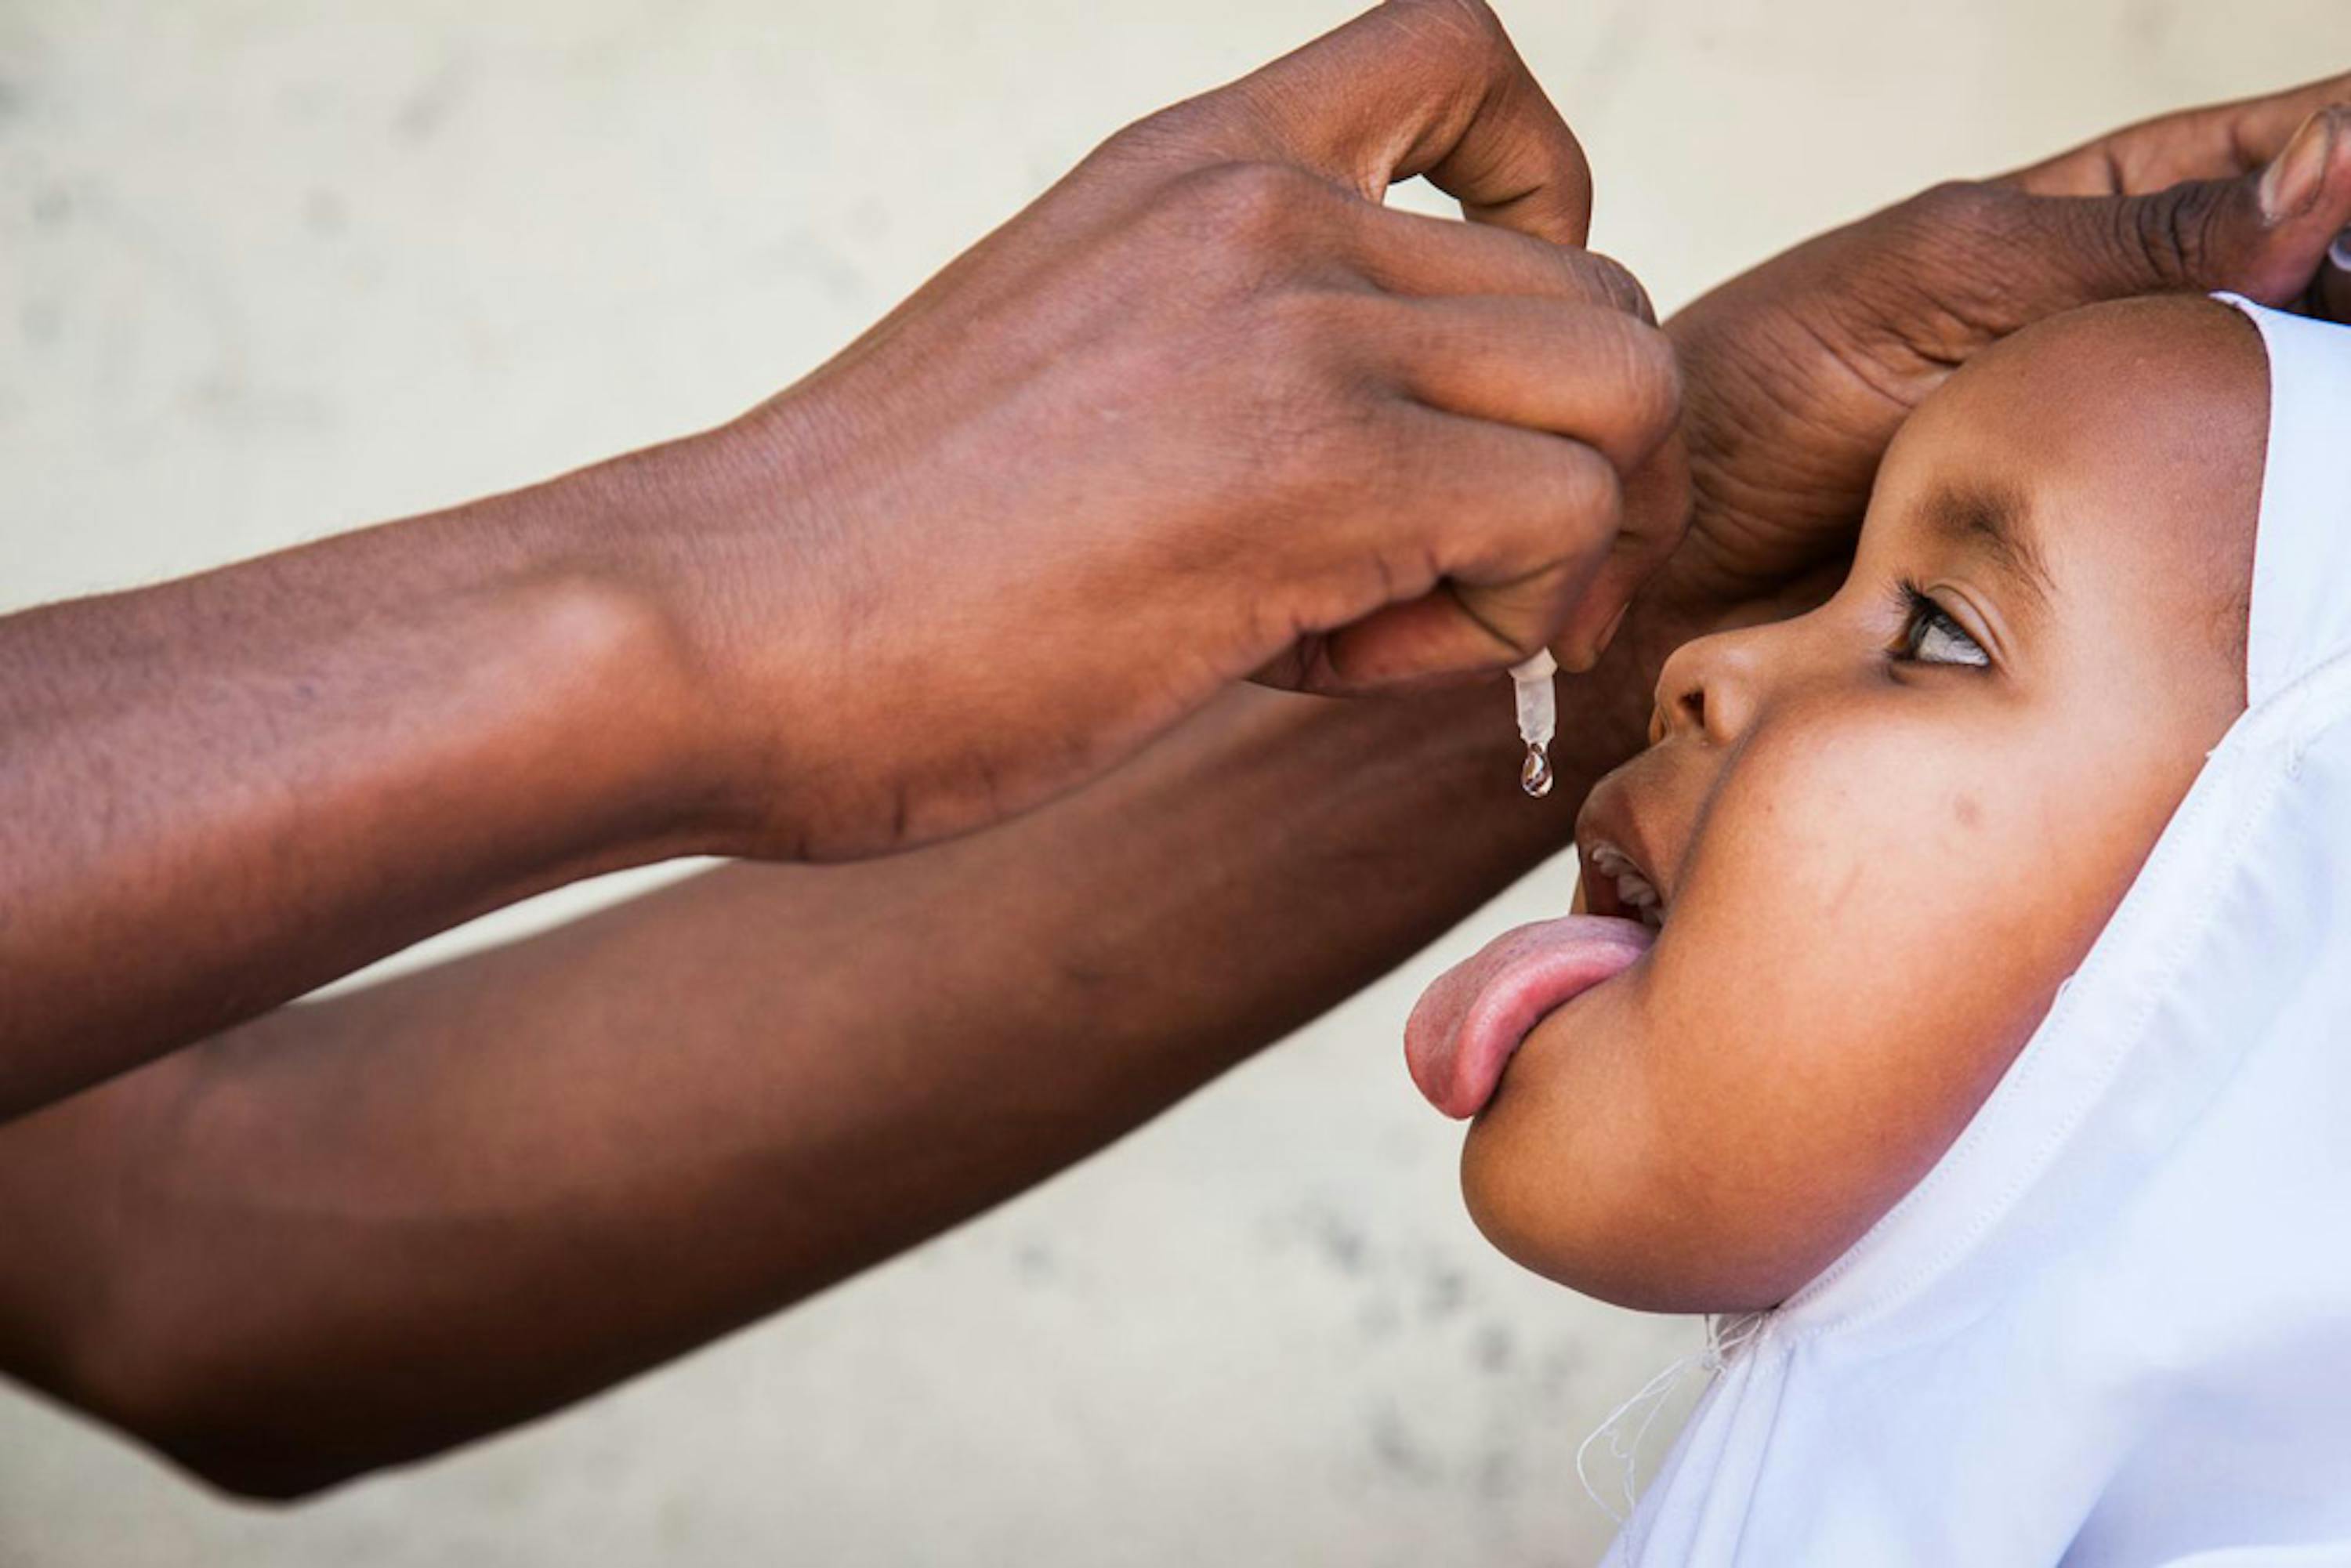
[[[2269,165],[2146,195],[2036,197],[2071,230],[2074,303],[2175,289],[2231,289],[2264,306],[2302,301],[2351,226],[2351,108],[2323,108]]]

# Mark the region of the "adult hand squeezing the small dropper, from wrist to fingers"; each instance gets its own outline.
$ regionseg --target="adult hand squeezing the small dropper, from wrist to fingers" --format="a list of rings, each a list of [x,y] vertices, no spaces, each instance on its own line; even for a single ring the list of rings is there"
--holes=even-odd
[[[1380,207],[1415,174],[1472,223]],[[1587,209],[1476,0],[1112,136],[722,433],[766,503],[632,545],[729,719],[731,846],[983,825],[1251,675],[1587,665],[1686,517],[1672,348]]]

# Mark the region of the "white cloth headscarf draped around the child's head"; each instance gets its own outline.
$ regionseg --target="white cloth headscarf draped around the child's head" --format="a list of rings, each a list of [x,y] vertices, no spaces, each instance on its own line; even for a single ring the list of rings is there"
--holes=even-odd
[[[1615,1568],[2351,1563],[2351,329],[2229,303],[2271,362],[2250,708]]]

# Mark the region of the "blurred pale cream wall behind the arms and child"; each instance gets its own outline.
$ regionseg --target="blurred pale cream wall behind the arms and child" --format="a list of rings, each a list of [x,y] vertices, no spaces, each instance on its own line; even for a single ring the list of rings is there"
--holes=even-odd
[[[0,609],[734,414],[1119,122],[1349,9],[0,0]],[[1505,16],[1660,306],[1921,183],[2351,66],[2342,0]],[[1566,891],[1538,872],[896,1267],[292,1514],[0,1385],[0,1563],[1592,1561],[1573,1450],[1697,1328],[1491,1255],[1396,1046],[1427,976]]]

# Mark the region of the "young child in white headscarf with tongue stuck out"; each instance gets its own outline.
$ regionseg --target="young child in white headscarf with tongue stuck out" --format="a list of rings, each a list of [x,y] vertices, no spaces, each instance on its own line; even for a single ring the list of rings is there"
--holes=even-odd
[[[1665,665],[1587,914],[1408,1032],[1502,1251],[1761,1314],[1610,1563],[2351,1561],[2346,717],[2351,331],[2203,299],[1970,362]]]

